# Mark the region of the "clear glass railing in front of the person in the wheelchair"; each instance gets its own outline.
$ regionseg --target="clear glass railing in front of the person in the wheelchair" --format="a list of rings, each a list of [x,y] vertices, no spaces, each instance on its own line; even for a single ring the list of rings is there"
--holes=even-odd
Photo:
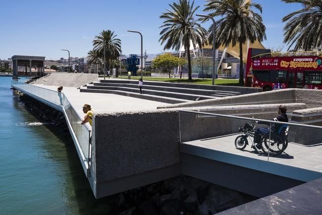
[[[180,143],[207,149],[205,155],[214,150],[317,172],[322,172],[321,125],[179,111]]]

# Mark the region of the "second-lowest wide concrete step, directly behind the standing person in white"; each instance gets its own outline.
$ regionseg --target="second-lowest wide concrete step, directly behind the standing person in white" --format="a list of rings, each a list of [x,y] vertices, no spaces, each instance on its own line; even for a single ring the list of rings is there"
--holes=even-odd
[[[98,90],[116,90],[116,91],[126,91],[126,92],[132,92],[132,93],[139,93],[139,89],[137,88],[129,88],[129,87],[105,87],[105,86],[94,86],[92,84],[89,84],[87,86],[88,89],[98,89]],[[156,90],[147,90],[142,88],[143,94],[149,94],[154,96],[161,96],[161,97],[170,97],[170,98],[176,98],[176,99],[182,99],[182,100],[190,100],[190,101],[196,101],[196,100],[207,100],[207,99],[215,99],[217,97],[213,96],[203,96],[203,95],[196,95],[196,94],[184,94],[184,93],[173,93],[173,92],[164,92],[164,91],[156,91]]]

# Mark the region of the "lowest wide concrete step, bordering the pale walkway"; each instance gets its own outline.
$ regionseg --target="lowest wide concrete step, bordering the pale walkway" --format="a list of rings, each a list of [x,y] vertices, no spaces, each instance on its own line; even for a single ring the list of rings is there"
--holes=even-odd
[[[109,94],[116,94],[120,96],[128,96],[128,97],[134,97],[138,99],[145,99],[155,102],[162,102],[167,104],[179,104],[179,103],[185,103],[185,102],[191,102],[189,100],[183,100],[183,99],[175,99],[175,98],[168,98],[168,97],[162,97],[162,96],[155,96],[155,95],[146,95],[146,94],[139,94],[139,93],[132,93],[132,92],[126,92],[126,91],[120,91],[120,90],[100,90],[100,89],[88,89],[82,87],[80,89],[80,92],[85,93],[109,93]]]

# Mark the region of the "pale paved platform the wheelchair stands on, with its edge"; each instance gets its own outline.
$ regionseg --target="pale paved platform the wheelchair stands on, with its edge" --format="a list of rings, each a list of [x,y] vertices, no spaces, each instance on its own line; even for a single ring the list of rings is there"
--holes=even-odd
[[[192,153],[196,156],[200,155],[206,155],[206,151],[213,152],[213,158],[216,159],[224,159],[220,160],[223,162],[230,162],[234,159],[230,159],[230,156],[236,156],[240,158],[247,157],[249,161],[247,163],[242,163],[242,159],[235,159],[234,161],[237,161],[236,163],[231,163],[235,165],[245,165],[247,167],[251,167],[251,164],[253,164],[252,168],[261,171],[267,171],[272,174],[276,175],[283,175],[284,177],[293,178],[296,180],[301,181],[311,181],[312,178],[310,178],[309,173],[304,173],[306,170],[312,171],[311,173],[313,175],[320,174],[322,176],[322,164],[321,164],[321,155],[322,155],[322,145],[317,146],[303,146],[299,144],[289,143],[287,149],[285,150],[285,153],[278,157],[270,157],[269,161],[281,164],[283,168],[275,166],[274,168],[265,170],[263,167],[264,165],[259,165],[260,162],[256,162],[255,160],[261,160],[261,161],[268,161],[268,157],[264,154],[258,154],[253,149],[251,149],[251,142],[249,141],[249,145],[245,148],[244,151],[237,150],[234,146],[235,138],[240,134],[235,135],[229,135],[225,137],[214,137],[214,138],[208,138],[208,139],[201,139],[201,140],[195,140],[190,142],[183,143],[186,146],[182,146],[183,148],[187,148],[188,146],[194,146],[197,147],[198,150],[190,150]],[[193,148],[191,148],[193,149]],[[199,151],[199,153],[198,153]],[[216,155],[215,152],[224,152],[226,153],[224,157]],[[211,154],[209,154],[210,156]],[[210,156],[209,158],[211,158]],[[251,161],[253,159],[253,161]],[[255,159],[255,160],[254,160]],[[293,171],[285,171],[287,167],[285,166],[291,166],[294,167]],[[259,167],[260,166],[260,167]],[[290,169],[290,168],[288,168]],[[302,174],[301,174],[302,173]]]

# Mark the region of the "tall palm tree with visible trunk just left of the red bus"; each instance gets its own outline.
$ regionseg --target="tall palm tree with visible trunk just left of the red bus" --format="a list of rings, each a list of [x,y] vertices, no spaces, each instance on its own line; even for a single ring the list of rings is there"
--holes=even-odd
[[[206,0],[204,11],[210,11],[212,17],[221,16],[216,26],[216,46],[228,47],[239,43],[239,83],[244,84],[242,45],[248,40],[254,43],[266,39],[262,16],[255,13],[255,8],[262,13],[262,6],[245,0]],[[210,26],[209,33],[212,32]],[[212,41],[213,35],[209,37]]]

